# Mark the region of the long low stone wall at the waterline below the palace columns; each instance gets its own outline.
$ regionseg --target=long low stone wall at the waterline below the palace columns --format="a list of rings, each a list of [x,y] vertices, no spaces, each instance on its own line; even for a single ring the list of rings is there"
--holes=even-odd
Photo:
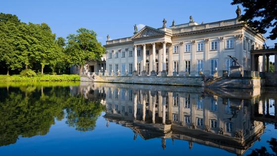
[[[175,85],[175,86],[202,86],[202,77],[179,76],[97,76],[94,82],[151,84],[151,85]]]

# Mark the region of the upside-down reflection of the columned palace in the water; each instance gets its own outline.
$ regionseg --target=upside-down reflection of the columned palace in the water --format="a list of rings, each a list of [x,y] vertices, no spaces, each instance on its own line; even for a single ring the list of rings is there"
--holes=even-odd
[[[164,149],[171,138],[188,141],[190,149],[198,143],[242,155],[264,132],[263,119],[255,117],[269,115],[260,89],[95,83],[81,84],[80,90],[87,97],[103,98],[107,126],[116,122],[129,127],[134,139],[161,138]]]

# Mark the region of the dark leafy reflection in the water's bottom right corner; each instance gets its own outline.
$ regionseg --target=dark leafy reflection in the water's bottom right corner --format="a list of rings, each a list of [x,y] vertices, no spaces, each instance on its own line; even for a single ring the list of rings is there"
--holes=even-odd
[[[248,156],[277,156],[277,140],[275,138],[271,138],[270,141],[267,141],[270,144],[270,148],[275,154],[270,154],[267,151],[267,148],[261,147],[261,149],[255,149]]]

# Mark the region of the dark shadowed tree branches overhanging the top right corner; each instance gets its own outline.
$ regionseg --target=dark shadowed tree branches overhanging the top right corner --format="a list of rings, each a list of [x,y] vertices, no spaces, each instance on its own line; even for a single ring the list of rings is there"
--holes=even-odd
[[[231,4],[241,4],[245,8],[241,21],[261,34],[265,34],[266,29],[273,28],[267,38],[277,38],[277,0],[233,0]]]

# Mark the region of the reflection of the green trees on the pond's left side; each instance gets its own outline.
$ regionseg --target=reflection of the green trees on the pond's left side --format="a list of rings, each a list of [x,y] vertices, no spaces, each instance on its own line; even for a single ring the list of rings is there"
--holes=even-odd
[[[68,87],[0,88],[0,93],[4,96],[0,98],[0,146],[15,143],[19,136],[46,135],[55,118],[64,118],[64,112],[69,126],[93,130],[104,110],[98,101],[70,96]]]

